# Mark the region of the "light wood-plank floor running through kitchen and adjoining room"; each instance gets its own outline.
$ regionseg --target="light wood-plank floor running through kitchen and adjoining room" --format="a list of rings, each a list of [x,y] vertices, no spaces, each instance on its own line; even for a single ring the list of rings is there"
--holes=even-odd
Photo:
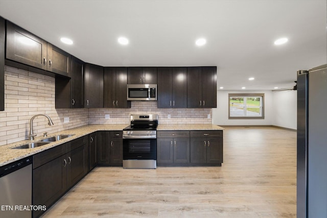
[[[97,167],[43,217],[296,217],[296,132],[226,128],[221,167]]]

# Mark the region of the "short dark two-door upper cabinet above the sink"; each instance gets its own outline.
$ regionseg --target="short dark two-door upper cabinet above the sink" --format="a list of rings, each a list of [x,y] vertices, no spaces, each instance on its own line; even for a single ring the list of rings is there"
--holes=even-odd
[[[8,20],[6,58],[71,77],[71,55]]]

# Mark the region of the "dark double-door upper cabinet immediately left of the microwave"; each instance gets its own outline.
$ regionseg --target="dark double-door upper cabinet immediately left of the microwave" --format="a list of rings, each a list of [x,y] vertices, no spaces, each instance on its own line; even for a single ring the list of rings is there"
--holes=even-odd
[[[127,101],[127,67],[104,68],[104,107],[131,107]]]

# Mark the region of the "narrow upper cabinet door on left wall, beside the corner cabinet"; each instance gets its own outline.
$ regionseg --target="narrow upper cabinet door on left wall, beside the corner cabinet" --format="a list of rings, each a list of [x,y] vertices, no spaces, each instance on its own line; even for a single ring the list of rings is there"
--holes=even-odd
[[[72,57],[71,108],[84,108],[84,67],[83,61]]]

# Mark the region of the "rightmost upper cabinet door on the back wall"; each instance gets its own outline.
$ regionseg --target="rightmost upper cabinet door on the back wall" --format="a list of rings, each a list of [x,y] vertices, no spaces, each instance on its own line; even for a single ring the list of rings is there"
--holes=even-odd
[[[202,107],[217,108],[217,67],[202,67]]]

